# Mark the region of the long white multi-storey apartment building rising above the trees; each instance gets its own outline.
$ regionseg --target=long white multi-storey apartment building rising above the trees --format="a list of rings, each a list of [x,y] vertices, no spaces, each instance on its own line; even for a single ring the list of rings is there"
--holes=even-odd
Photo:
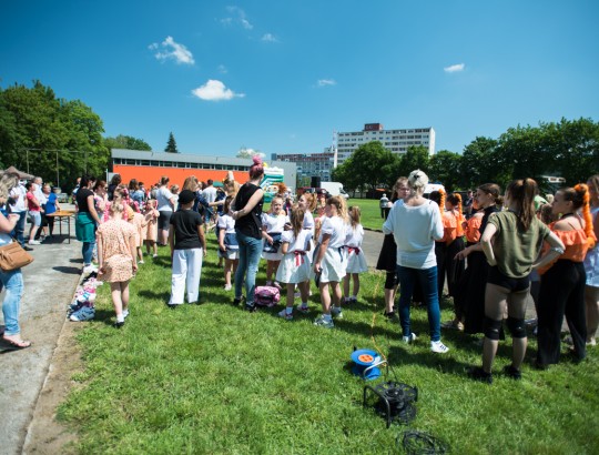
[[[366,123],[364,130],[337,133],[337,164],[343,163],[362,144],[379,141],[393,153],[406,153],[410,145],[424,145],[435,154],[435,130],[433,128],[408,128],[385,130],[380,123]]]

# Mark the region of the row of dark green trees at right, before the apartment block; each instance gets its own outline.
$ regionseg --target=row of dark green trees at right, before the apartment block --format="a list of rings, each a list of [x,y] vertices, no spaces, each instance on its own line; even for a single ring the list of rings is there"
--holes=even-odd
[[[390,189],[400,175],[415,169],[449,191],[494,182],[505,188],[512,179],[532,178],[549,190],[546,176],[561,176],[567,184],[586,182],[599,172],[599,123],[590,119],[539,123],[508,129],[498,139],[476,138],[461,154],[441,150],[428,154],[424,145],[395,154],[378,141],[361,145],[333,171],[345,189]]]

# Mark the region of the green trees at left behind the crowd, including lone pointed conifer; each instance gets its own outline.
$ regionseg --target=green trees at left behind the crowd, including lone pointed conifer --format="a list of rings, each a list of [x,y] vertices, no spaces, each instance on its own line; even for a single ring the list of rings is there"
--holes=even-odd
[[[40,81],[0,88],[0,170],[13,165],[70,191],[83,173],[105,175],[110,149],[152,150],[142,139],[102,133],[90,107],[58,98]],[[177,153],[172,132],[164,151]]]

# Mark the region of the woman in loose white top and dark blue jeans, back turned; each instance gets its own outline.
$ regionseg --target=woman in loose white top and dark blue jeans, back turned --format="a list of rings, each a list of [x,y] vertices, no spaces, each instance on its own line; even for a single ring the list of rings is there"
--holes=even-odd
[[[449,348],[440,341],[440,311],[437,293],[437,260],[435,241],[441,240],[444,230],[439,206],[423,196],[428,176],[420,170],[408,176],[410,195],[398,200],[392,208],[383,232],[392,234],[397,244],[397,276],[399,295],[399,320],[403,341],[412,343],[416,334],[410,330],[409,304],[414,283],[423,289],[428,311],[430,351],[446,353]]]

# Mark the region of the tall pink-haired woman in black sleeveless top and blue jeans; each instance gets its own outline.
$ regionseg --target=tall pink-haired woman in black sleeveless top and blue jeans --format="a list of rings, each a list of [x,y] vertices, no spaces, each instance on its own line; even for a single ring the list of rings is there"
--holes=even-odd
[[[260,156],[254,156],[254,164],[250,168],[250,181],[240,188],[233,201],[232,218],[235,220],[235,234],[240,244],[240,264],[235,272],[234,305],[242,301],[242,284],[245,277],[245,309],[255,311],[254,289],[256,273],[262,253],[262,204],[264,191],[260,181],[264,175],[264,168]]]

